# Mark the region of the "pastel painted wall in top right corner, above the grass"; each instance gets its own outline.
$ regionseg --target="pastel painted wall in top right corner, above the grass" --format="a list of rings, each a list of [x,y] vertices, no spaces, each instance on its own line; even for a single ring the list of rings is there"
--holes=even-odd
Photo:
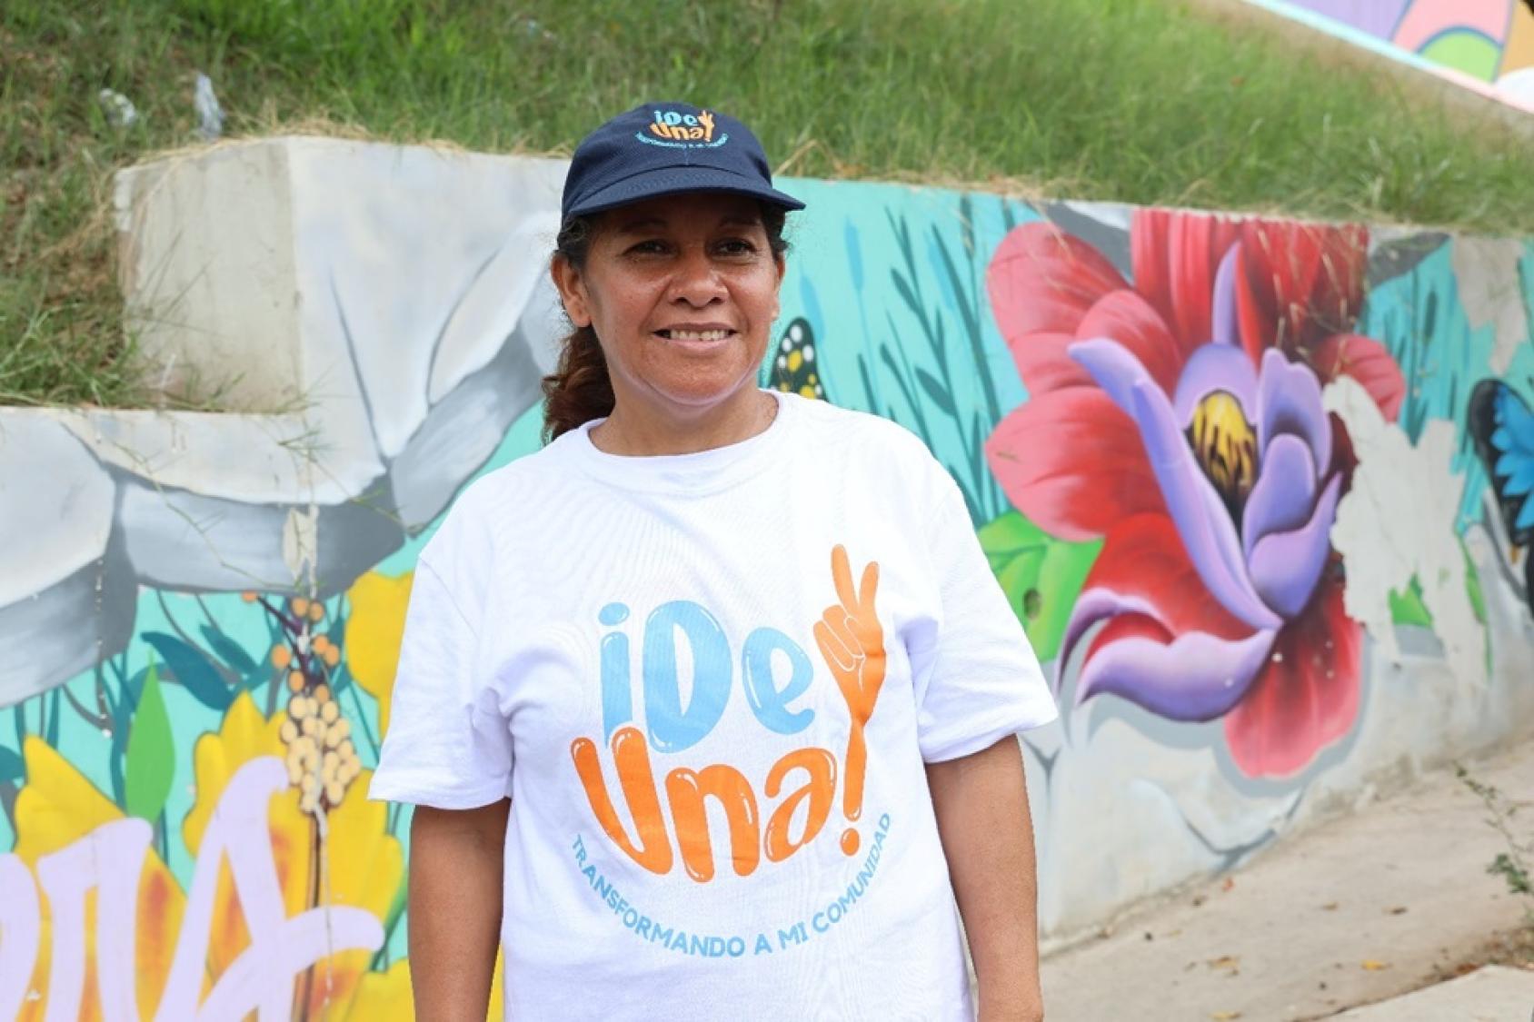
[[[1528,0],[1247,0],[1534,112]]]

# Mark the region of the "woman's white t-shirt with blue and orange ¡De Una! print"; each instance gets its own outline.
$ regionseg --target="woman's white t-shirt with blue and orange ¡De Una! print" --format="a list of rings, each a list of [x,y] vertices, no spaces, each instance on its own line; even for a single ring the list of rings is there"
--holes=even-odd
[[[700,454],[566,433],[420,556],[371,796],[511,795],[518,1022],[973,1017],[923,763],[1054,700],[920,440],[769,393]]]

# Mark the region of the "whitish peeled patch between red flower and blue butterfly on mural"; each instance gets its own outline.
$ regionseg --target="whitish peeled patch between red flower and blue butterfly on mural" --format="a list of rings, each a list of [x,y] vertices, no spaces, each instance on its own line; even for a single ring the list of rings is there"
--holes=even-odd
[[[1485,629],[1465,588],[1465,560],[1451,539],[1463,488],[1450,468],[1457,448],[1454,424],[1430,420],[1413,447],[1348,376],[1327,385],[1322,404],[1347,425],[1359,460],[1332,526],[1332,545],[1347,565],[1348,615],[1364,623],[1390,660],[1399,660],[1390,592],[1408,588],[1416,575],[1454,675],[1483,687]]]

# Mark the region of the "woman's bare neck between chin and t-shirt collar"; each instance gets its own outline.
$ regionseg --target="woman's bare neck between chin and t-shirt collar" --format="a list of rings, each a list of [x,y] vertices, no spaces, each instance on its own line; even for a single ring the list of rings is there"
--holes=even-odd
[[[591,431],[591,442],[604,454],[696,454],[749,440],[776,416],[778,401],[756,387],[744,387],[707,410],[680,414],[641,411],[620,397],[607,420]]]

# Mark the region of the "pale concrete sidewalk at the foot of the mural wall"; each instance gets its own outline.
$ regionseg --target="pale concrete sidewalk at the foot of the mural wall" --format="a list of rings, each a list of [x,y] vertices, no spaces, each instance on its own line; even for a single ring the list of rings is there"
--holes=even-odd
[[[1534,743],[1465,766],[1523,806],[1513,823],[1523,839],[1534,836]],[[1443,769],[1281,839],[1227,878],[1138,908],[1108,936],[1049,954],[1048,1017],[1287,1022],[1433,985],[1493,933],[1523,919],[1520,902],[1528,899],[1486,873],[1506,847],[1485,819],[1480,799]],[[1534,973],[1506,971],[1497,982],[1433,991],[1440,1001],[1430,1010],[1456,1004],[1447,1014],[1408,1016],[1402,1008],[1356,1017],[1480,1017],[1477,990],[1516,1001],[1517,981],[1534,981]],[[1514,1022],[1531,1014],[1534,982]],[[1505,1011],[1485,1017],[1500,1020]]]

